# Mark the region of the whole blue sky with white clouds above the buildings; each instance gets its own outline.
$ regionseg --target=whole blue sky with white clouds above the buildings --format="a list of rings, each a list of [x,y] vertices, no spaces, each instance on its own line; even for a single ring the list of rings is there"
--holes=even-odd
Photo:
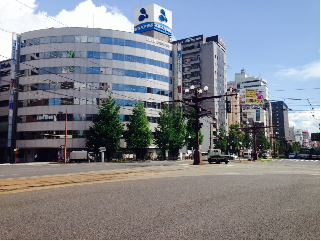
[[[11,57],[11,32],[95,27],[133,32],[134,10],[172,11],[173,40],[219,35],[228,81],[244,68],[268,82],[269,99],[291,109],[289,125],[320,132],[319,0],[0,0],[0,60]]]

